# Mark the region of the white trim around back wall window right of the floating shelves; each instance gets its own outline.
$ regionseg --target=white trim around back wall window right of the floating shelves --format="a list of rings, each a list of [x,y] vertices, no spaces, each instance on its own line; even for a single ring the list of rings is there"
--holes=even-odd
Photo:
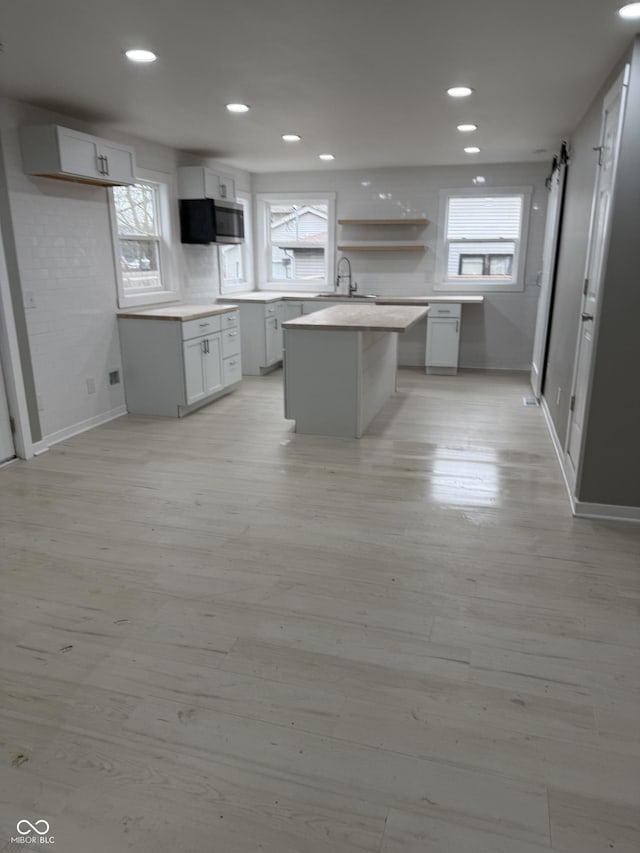
[[[449,199],[468,196],[522,196],[521,237],[518,244],[517,261],[514,259],[513,281],[505,283],[499,279],[486,278],[482,281],[454,281],[447,279],[447,211]],[[533,187],[472,187],[440,190],[440,211],[438,215],[438,248],[436,250],[436,270],[434,290],[457,293],[516,293],[524,290],[527,244],[529,238],[529,217]]]

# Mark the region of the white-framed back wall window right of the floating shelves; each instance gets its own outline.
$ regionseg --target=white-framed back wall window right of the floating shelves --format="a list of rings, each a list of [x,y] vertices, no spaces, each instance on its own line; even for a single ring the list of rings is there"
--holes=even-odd
[[[530,195],[512,189],[442,193],[437,289],[523,289]]]

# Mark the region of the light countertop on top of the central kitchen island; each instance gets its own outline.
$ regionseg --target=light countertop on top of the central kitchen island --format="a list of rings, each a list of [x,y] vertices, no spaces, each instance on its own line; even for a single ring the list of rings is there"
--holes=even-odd
[[[414,323],[422,320],[427,307],[409,305],[372,305],[358,302],[356,305],[334,305],[288,320],[285,329],[313,329],[315,331],[351,332],[406,332]]]

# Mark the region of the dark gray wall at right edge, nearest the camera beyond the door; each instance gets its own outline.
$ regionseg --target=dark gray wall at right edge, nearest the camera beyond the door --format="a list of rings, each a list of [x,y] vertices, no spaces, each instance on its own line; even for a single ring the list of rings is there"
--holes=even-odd
[[[640,37],[614,192],[578,498],[640,506]]]

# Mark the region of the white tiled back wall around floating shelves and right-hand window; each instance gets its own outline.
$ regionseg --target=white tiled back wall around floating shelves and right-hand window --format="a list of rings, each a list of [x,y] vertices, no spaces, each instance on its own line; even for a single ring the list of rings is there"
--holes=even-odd
[[[367,171],[287,172],[253,176],[255,192],[337,193],[337,219],[388,218],[401,215],[400,205],[426,216],[430,224],[411,240],[424,241],[425,254],[351,253],[354,278],[361,292],[384,295],[432,294],[438,247],[440,190],[473,187],[482,174],[484,188],[533,188],[525,289],[521,293],[489,293],[483,306],[468,306],[463,312],[460,364],[463,367],[527,370],[531,360],[539,287],[537,275],[542,258],[546,190],[549,167],[540,163],[503,166],[415,167]],[[385,198],[380,198],[380,195]],[[391,196],[389,198],[389,195]],[[341,228],[338,227],[340,243]],[[343,235],[346,236],[346,235]],[[376,239],[378,232],[354,234],[354,239]],[[403,239],[404,234],[380,233],[382,239]],[[441,294],[439,294],[441,295]],[[401,338],[404,364],[424,364],[425,328],[420,324]]]

